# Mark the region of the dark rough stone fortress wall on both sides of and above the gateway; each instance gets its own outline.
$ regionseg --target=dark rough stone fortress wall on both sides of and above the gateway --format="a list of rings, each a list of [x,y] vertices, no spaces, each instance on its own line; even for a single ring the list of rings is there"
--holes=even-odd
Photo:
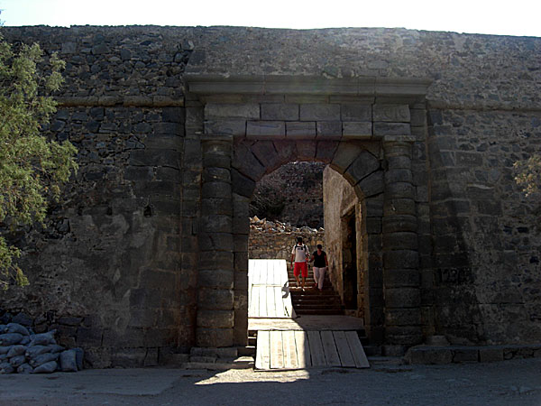
[[[381,310],[372,321],[388,334],[381,342],[403,345],[393,343],[391,333],[407,337],[408,329],[417,340],[418,326],[423,337],[445,335],[457,344],[536,343],[541,337],[538,202],[521,194],[512,171],[514,161],[541,152],[540,39],[402,29],[152,26],[5,27],[3,33],[11,42],[39,42],[47,54],[59,51],[67,61],[59,111],[44,131],[78,147],[80,170],[50,209],[44,229],[10,235],[23,248],[31,287],[3,293],[0,308],[23,309],[32,318],[47,312],[84,318],[69,337],[86,349],[90,366],[158,364],[188,351],[200,339],[197,331],[200,337],[206,332],[197,323],[210,320],[197,315],[208,303],[205,292],[233,284],[235,318],[220,328],[234,324],[235,334],[243,331],[245,294],[239,291],[248,212],[242,221],[233,217],[245,238],[235,240],[227,255],[213,257],[227,263],[231,257],[235,280],[221,281],[219,289],[205,285],[217,283],[200,272],[206,255],[199,254],[213,246],[204,239],[206,217],[217,208],[202,196],[209,177],[224,174],[204,171],[215,157],[202,145],[205,110],[187,97],[187,73],[232,83],[237,76],[274,76],[288,86],[299,77],[317,77],[356,83],[357,94],[368,83],[380,94],[352,98],[370,106],[363,111],[370,112],[371,125],[356,128],[386,136],[406,127],[374,122],[377,105],[409,105],[409,166],[388,171],[386,181],[402,188],[402,203],[415,202],[408,216],[417,218],[417,259],[404,272],[388,272],[400,271],[389,262],[400,250],[389,254],[385,246],[405,243],[389,241],[398,234],[388,233],[381,218],[393,207],[406,210],[399,200],[391,205],[389,197],[373,198],[369,209],[381,215],[368,217],[359,230],[371,252],[367,263],[380,270],[367,282],[388,292],[370,303]],[[426,98],[410,104],[393,94],[386,100],[385,83],[407,78],[430,80]],[[278,95],[274,101],[335,103],[343,118],[348,103],[347,96]],[[231,103],[243,105],[242,97]],[[250,119],[243,120],[246,129]],[[338,139],[354,126],[343,125]],[[243,145],[257,141],[245,134],[235,138]],[[297,145],[297,156],[319,156],[310,158],[302,153],[306,143]],[[401,159],[379,151],[372,152],[383,169]],[[392,290],[404,295],[393,300],[412,303],[420,316],[392,309]]]

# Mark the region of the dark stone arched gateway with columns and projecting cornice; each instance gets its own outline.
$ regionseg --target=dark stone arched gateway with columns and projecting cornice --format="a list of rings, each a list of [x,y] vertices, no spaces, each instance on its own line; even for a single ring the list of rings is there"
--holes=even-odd
[[[359,198],[360,294],[371,341],[420,343],[423,231],[416,191],[426,189],[426,180],[414,181],[412,158],[414,144],[425,144],[430,82],[202,75],[186,80],[186,136],[200,140],[203,153],[197,346],[247,342],[248,206],[255,183],[289,161],[328,163]]]

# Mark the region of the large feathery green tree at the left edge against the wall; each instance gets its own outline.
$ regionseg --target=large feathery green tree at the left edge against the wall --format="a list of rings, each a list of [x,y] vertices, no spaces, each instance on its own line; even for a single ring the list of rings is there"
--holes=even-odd
[[[40,67],[40,69],[38,68]],[[63,82],[64,62],[56,54],[45,59],[38,44],[18,51],[0,33],[0,225],[43,223],[50,199],[78,165],[76,148],[57,143],[40,132],[56,112],[51,97]],[[0,235],[0,287],[28,284],[15,263],[21,251]]]

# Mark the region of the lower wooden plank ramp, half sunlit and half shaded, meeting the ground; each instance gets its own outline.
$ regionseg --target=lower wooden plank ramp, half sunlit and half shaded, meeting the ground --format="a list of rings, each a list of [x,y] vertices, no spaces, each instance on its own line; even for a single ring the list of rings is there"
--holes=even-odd
[[[255,368],[369,368],[356,331],[261,330],[257,332]]]

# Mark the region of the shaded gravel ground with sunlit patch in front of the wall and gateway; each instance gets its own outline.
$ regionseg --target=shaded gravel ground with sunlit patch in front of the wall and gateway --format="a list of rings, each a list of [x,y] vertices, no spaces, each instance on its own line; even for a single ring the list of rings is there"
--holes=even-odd
[[[2,405],[541,405],[541,359],[224,372],[109,369],[0,375]]]

